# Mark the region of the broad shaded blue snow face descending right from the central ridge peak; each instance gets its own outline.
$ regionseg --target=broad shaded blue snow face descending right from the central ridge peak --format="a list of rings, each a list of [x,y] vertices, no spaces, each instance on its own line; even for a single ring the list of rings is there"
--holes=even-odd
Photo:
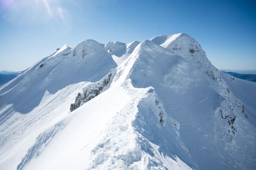
[[[143,41],[135,51],[136,54],[131,55],[136,59],[129,76],[132,85],[139,88],[154,87],[163,101],[166,113],[172,114],[181,124],[180,140],[194,159],[182,160],[186,160],[188,164],[194,162],[196,166],[193,167],[209,169],[210,162],[207,157],[211,157],[211,168],[223,169],[225,165],[218,162],[225,161],[228,167],[243,167],[241,162],[246,157],[240,162],[241,157],[234,155],[243,153],[254,157],[254,152],[249,149],[237,153],[237,142],[239,145],[246,143],[249,146],[255,137],[246,138],[243,127],[237,126],[237,122],[246,121],[244,107],[230,89],[227,89],[225,81],[209,78],[181,57],[150,41]],[[220,108],[227,113],[227,119],[221,117]],[[237,140],[236,135],[243,138]],[[250,147],[254,148],[252,145]],[[225,152],[220,148],[225,148]],[[182,158],[180,152],[178,155]],[[220,155],[225,160],[221,160]],[[251,162],[248,167],[252,165]]]

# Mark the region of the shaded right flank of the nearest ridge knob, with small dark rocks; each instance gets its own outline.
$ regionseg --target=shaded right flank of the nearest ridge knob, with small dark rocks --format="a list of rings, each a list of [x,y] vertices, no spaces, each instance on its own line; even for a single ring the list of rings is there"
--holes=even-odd
[[[161,120],[164,120],[164,124]],[[138,135],[140,148],[147,155],[148,167],[191,169],[196,166],[189,157],[188,148],[179,139],[179,122],[164,111],[163,103],[159,101],[154,91],[149,91],[148,97],[140,101],[138,113],[132,124]]]

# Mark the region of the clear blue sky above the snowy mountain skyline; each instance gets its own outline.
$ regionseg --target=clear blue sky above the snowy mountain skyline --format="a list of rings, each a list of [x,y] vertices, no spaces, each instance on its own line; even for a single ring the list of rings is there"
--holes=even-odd
[[[84,39],[184,32],[219,69],[256,69],[256,1],[0,0],[0,70],[21,71]]]

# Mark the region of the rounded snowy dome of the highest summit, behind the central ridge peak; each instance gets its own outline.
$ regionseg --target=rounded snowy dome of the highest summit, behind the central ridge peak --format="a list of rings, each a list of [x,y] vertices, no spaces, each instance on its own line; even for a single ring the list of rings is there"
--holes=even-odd
[[[150,39],[153,43],[163,46],[170,52],[176,53],[188,60],[194,66],[204,71],[214,80],[221,79],[220,71],[214,67],[207,59],[204,50],[195,39],[187,34],[173,34],[166,36],[156,36]]]

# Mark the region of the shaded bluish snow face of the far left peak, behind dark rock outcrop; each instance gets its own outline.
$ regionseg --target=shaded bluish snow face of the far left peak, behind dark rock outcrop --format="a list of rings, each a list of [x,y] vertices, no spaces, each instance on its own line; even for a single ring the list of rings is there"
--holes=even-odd
[[[41,60],[1,87],[0,108],[14,102],[15,110],[29,113],[40,103],[46,90],[54,94],[72,83],[99,81],[115,67],[104,45],[94,40],[83,41],[73,50],[67,47]],[[15,100],[17,97],[19,100]]]

